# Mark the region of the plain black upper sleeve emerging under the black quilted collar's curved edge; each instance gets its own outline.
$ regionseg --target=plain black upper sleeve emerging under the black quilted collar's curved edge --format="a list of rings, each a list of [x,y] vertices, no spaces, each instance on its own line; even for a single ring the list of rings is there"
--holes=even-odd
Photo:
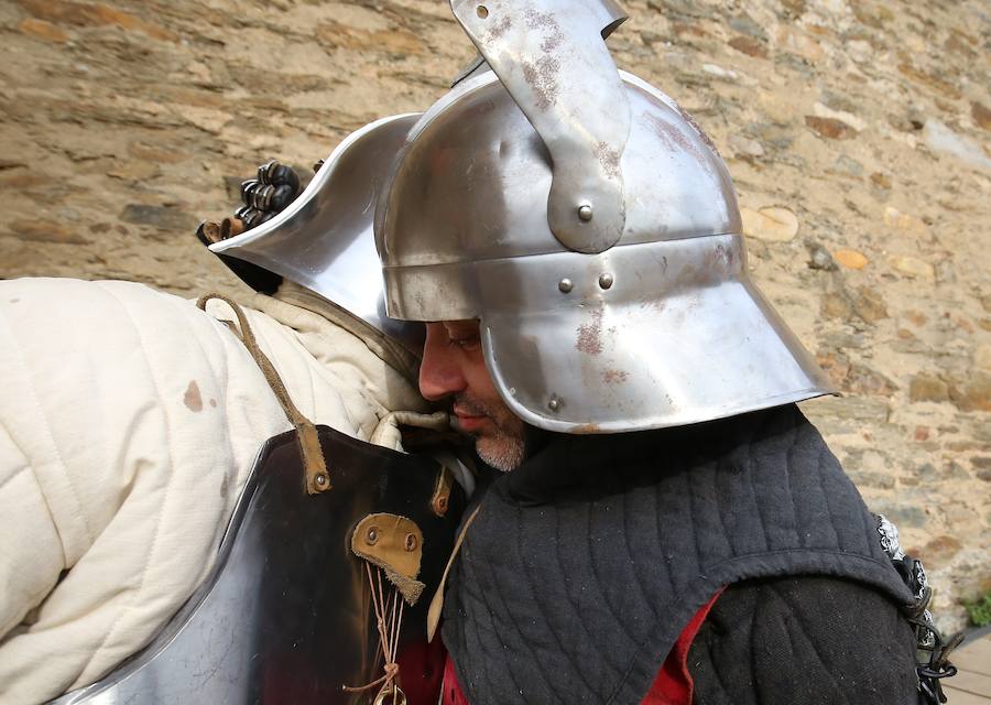
[[[850,581],[745,581],[688,652],[698,705],[914,705],[915,636],[897,606]]]

